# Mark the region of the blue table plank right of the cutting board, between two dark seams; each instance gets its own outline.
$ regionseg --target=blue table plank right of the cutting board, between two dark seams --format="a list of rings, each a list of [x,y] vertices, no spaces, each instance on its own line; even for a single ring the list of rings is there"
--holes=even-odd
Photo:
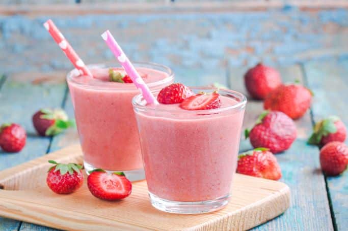
[[[283,82],[303,80],[299,65],[276,68],[280,71]],[[246,92],[243,81],[246,69],[229,69],[232,89]],[[248,100],[244,126],[252,127],[263,105],[262,101],[254,101],[250,98]],[[311,130],[309,112],[297,120],[296,125],[298,139],[289,150],[276,155],[283,174],[280,181],[288,184],[291,190],[291,206],[282,216],[255,230],[333,230],[325,179],[320,172],[316,171],[319,166],[318,159],[315,157],[317,149],[306,144],[306,138]],[[240,149],[241,151],[251,149],[249,140],[242,139]]]

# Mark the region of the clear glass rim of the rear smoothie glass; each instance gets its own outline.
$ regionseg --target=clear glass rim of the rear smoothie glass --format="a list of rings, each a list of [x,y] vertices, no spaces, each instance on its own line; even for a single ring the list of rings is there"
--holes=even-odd
[[[151,67],[158,67],[158,68],[161,68],[161,69],[164,69],[163,72],[165,72],[166,74],[168,74],[168,77],[162,79],[162,80],[159,80],[159,81],[156,81],[156,82],[151,82],[151,83],[146,83],[146,85],[151,88],[151,87],[156,87],[156,86],[160,86],[160,85],[163,85],[163,84],[166,84],[166,83],[169,83],[171,81],[174,80],[174,72],[172,71],[172,69],[170,69],[169,67],[167,67],[166,65],[163,65],[163,64],[159,64],[159,63],[155,63],[155,62],[146,62],[146,61],[139,61],[139,62],[132,62],[132,64],[135,65],[135,68],[138,67],[144,67],[145,65],[148,65],[149,68]],[[105,68],[108,68],[108,67],[112,67],[112,64],[109,64],[109,63],[94,63],[94,64],[88,64],[86,65],[88,68],[97,68],[97,67],[105,67]],[[115,63],[114,64],[114,67],[116,68],[122,68],[122,66],[119,64],[119,63]],[[158,70],[158,69],[155,69],[157,71],[161,71],[161,70]],[[125,91],[125,90],[131,90],[131,91],[134,91],[134,90],[138,90],[134,84],[127,84],[128,86],[122,88],[122,89],[113,89],[113,88],[105,88],[103,86],[94,86],[94,85],[89,85],[89,84],[83,84],[83,83],[79,83],[79,82],[76,82],[72,79],[72,76],[73,74],[76,74],[78,72],[78,70],[76,68],[72,69],[71,71],[68,72],[68,74],[66,75],[66,80],[67,82],[71,82],[73,84],[77,84],[78,86],[81,86],[83,88],[86,88],[86,89],[94,89],[94,90],[107,90],[107,91]]]

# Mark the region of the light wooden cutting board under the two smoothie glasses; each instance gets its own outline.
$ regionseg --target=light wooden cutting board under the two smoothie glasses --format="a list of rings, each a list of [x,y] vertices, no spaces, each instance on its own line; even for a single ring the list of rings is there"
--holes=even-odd
[[[230,203],[207,214],[156,210],[146,181],[134,182],[132,194],[118,202],[96,199],[86,182],[72,194],[58,195],[46,186],[48,159],[82,163],[81,148],[70,146],[0,172],[0,216],[69,230],[245,230],[280,215],[290,204],[286,184],[239,174]]]

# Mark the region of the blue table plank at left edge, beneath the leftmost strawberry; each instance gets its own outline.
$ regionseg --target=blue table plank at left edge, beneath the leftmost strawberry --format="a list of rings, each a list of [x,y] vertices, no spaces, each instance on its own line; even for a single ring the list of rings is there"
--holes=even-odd
[[[42,107],[61,105],[65,90],[64,81],[57,76],[39,73],[19,73],[11,75],[0,91],[0,123],[16,122],[21,124],[28,138],[19,153],[0,151],[0,169],[6,169],[31,160],[46,153],[49,138],[40,138],[32,126],[32,115]],[[16,229],[20,221],[0,218],[0,229]]]

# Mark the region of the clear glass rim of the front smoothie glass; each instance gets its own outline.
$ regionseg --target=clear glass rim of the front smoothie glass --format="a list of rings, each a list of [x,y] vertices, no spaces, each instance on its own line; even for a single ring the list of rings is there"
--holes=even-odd
[[[198,87],[189,87],[190,89],[196,89],[196,90],[219,90],[219,92],[226,92],[227,94],[231,94],[235,97],[231,97],[230,98],[238,98],[240,100],[240,102],[238,102],[235,105],[232,106],[228,106],[228,107],[224,107],[224,108],[217,108],[217,109],[210,109],[210,110],[178,110],[178,109],[158,109],[158,108],[151,108],[151,107],[146,107],[142,104],[140,104],[139,102],[143,102],[144,99],[142,99],[142,94],[137,94],[136,96],[134,96],[132,98],[132,105],[133,105],[133,109],[139,109],[142,111],[146,111],[146,112],[164,112],[164,113],[170,113],[172,115],[209,115],[209,114],[216,114],[216,113],[220,113],[220,112],[224,112],[224,111],[228,111],[228,110],[239,110],[242,109],[246,106],[247,104],[247,97],[238,92],[238,91],[234,91],[234,90],[230,90],[230,89],[222,89],[222,88],[217,88],[217,87],[204,87],[204,86],[198,86]],[[156,94],[158,93],[160,90],[156,89],[156,90],[152,90],[151,92]]]

